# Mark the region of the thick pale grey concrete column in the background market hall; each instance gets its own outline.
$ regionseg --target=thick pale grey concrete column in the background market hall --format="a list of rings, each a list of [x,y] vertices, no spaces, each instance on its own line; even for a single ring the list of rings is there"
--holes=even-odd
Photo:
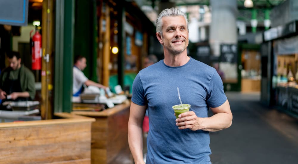
[[[220,44],[237,43],[238,14],[236,0],[210,0],[212,21],[209,30],[209,44],[214,56],[220,56]]]

